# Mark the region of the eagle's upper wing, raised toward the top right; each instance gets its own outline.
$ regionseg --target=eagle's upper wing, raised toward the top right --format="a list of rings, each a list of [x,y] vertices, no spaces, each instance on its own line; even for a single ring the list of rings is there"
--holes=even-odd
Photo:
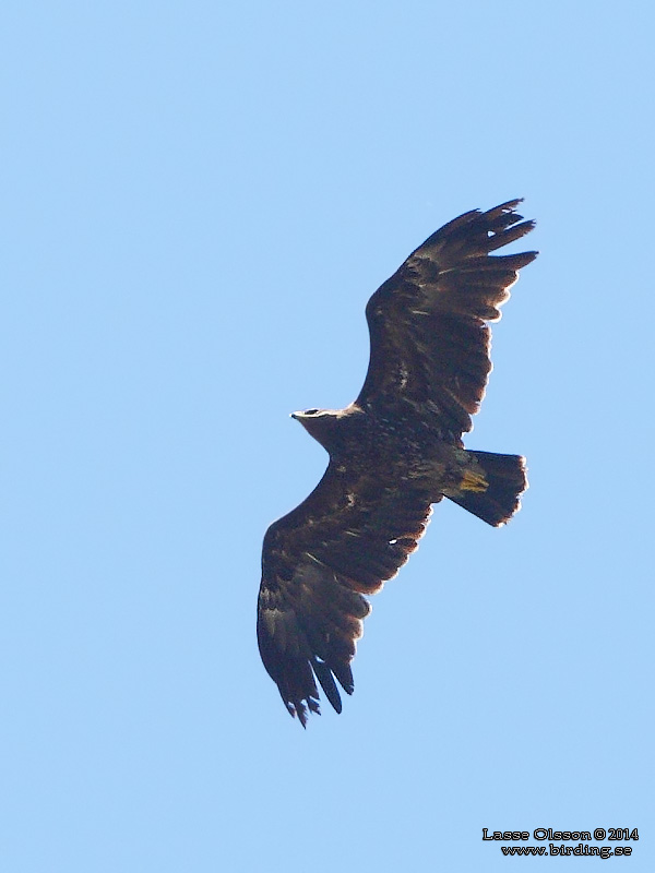
[[[420,407],[445,433],[473,427],[491,370],[491,332],[517,271],[537,252],[491,255],[534,227],[512,200],[474,210],[432,234],[371,297],[371,339],[359,406]]]

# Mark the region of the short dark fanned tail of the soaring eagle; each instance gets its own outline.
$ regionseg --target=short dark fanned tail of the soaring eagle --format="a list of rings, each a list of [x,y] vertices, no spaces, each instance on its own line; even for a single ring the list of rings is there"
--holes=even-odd
[[[466,454],[474,462],[469,480],[465,476],[464,487],[446,497],[493,527],[507,524],[521,509],[520,498],[527,488],[525,458],[492,452]]]

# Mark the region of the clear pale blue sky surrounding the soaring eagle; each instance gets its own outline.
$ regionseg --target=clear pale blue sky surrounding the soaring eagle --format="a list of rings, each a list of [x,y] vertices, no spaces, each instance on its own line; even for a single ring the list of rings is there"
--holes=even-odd
[[[654,28],[5,0],[2,870],[581,863],[483,827],[638,827],[612,869],[655,870]],[[326,461],[288,414],[349,403],[372,291],[514,196],[541,255],[467,445],[527,456],[523,511],[437,507],[302,731],[254,635],[263,533]]]

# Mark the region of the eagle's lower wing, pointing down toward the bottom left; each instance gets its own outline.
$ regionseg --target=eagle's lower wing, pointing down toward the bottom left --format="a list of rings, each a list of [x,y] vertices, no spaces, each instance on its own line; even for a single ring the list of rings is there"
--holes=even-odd
[[[433,498],[432,498],[433,499]],[[264,538],[257,633],[264,667],[302,726],[319,711],[318,679],[341,713],[335,678],[353,693],[350,661],[370,606],[416,549],[430,498],[384,475],[332,462],[314,491]]]

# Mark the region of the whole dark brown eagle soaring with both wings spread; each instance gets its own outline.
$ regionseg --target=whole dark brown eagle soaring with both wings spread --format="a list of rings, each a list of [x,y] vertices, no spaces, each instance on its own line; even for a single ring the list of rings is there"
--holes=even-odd
[[[520,509],[525,459],[464,449],[491,370],[488,322],[537,252],[492,254],[534,227],[516,207],[473,210],[414,251],[366,307],[370,360],[345,409],[293,418],[327,451],[311,494],[269,527],[258,600],[259,649],[291,716],[337,713],[338,685],[370,612],[444,497],[495,527]]]

